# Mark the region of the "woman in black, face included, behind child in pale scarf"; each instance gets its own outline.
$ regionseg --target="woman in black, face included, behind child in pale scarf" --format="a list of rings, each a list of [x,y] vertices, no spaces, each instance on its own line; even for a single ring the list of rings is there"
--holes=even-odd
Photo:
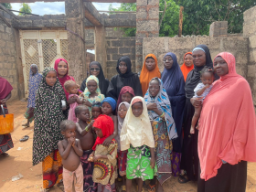
[[[90,69],[90,75],[94,75],[98,78],[101,94],[103,94],[106,97],[106,93],[107,93],[110,81],[105,79],[103,70],[101,68],[101,64],[97,61],[92,61],[89,65],[89,69]],[[80,91],[85,90],[86,80],[87,78],[82,81],[80,86]]]

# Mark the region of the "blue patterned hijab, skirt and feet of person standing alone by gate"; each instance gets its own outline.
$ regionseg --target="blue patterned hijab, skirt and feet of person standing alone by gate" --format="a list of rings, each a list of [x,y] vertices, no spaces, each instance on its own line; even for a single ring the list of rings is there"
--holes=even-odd
[[[37,73],[33,75],[32,67],[36,67],[36,64],[32,64],[30,66],[29,71],[29,84],[28,84],[28,98],[27,98],[27,112],[25,112],[24,116],[28,119],[29,123],[34,120],[34,109],[35,109],[35,102],[36,102],[36,93],[39,86],[40,81],[42,80],[42,75]]]

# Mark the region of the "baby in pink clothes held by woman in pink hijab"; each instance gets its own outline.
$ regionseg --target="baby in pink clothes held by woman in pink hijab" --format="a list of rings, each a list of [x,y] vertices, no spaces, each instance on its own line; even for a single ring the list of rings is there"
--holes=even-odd
[[[77,123],[77,117],[75,114],[75,109],[79,104],[82,104],[82,100],[78,95],[78,84],[74,80],[67,80],[64,83],[64,88],[67,92],[69,92],[69,98],[76,98],[76,101],[72,104],[69,104],[69,117],[68,120]]]

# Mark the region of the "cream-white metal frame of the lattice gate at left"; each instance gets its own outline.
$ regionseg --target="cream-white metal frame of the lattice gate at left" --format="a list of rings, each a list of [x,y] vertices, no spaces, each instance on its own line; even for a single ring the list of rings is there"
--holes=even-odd
[[[19,30],[20,46],[21,46],[21,59],[23,67],[23,76],[25,83],[25,95],[28,97],[28,82],[27,82],[27,70],[25,59],[24,39],[37,39],[38,58],[39,58],[39,70],[44,69],[44,56],[42,49],[42,39],[56,39],[57,40],[57,59],[61,57],[60,39],[68,39],[66,30]]]

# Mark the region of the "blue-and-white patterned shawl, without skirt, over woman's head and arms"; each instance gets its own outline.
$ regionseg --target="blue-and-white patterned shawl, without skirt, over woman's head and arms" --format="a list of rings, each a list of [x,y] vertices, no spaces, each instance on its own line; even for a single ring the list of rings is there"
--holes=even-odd
[[[152,97],[149,90],[146,91],[144,95],[144,101],[147,105],[151,102],[156,103],[157,109],[161,112],[165,112],[165,122],[167,125],[169,139],[175,139],[177,137],[176,123],[172,115],[171,103],[169,101],[165,88],[163,87],[163,82],[158,78],[153,78],[152,80],[157,80],[159,82],[160,90],[155,97]],[[152,80],[150,80],[150,82]],[[155,122],[159,122],[162,120],[161,117],[154,111],[148,111],[148,116],[150,120],[153,120]]]

